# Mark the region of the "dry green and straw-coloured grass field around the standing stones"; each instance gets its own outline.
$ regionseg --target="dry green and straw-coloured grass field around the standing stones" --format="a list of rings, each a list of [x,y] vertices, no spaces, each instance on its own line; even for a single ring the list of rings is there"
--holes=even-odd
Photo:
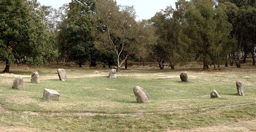
[[[0,131],[256,131],[256,66],[203,71],[196,62],[176,70],[154,65],[130,65],[117,72],[117,79],[109,79],[110,69],[101,65],[13,65],[10,71],[18,74],[0,74]],[[58,68],[66,69],[68,81],[59,81]],[[39,84],[30,83],[36,70]],[[181,81],[183,71],[190,83]],[[23,77],[25,90],[11,88],[18,76]],[[166,76],[174,78],[154,79]],[[236,80],[243,82],[246,96],[237,95]],[[137,103],[134,86],[145,89],[152,102]],[[43,100],[44,89],[58,91],[60,100]],[[210,98],[214,89],[220,98]]]

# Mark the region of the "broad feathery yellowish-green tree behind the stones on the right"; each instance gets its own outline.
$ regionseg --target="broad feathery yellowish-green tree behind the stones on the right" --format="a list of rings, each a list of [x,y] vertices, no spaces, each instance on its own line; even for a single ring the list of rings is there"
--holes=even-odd
[[[221,54],[231,29],[223,9],[214,8],[214,5],[213,0],[192,0],[185,13],[190,48],[196,58],[203,61],[203,69],[208,69],[212,62],[224,60]]]

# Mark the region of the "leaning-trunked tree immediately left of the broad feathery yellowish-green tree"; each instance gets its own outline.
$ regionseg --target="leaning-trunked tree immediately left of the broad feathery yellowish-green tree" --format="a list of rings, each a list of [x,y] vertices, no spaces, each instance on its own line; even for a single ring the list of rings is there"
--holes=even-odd
[[[151,18],[157,29],[156,34],[159,36],[155,51],[158,54],[158,58],[167,58],[172,70],[174,70],[175,64],[180,63],[182,65],[186,63],[185,59],[188,58],[186,46],[181,41],[184,38],[184,34],[179,21],[180,16],[175,16],[174,12],[177,12],[177,10],[175,11],[171,6],[167,6],[165,10],[157,12]],[[161,69],[161,59],[158,59],[158,62]]]

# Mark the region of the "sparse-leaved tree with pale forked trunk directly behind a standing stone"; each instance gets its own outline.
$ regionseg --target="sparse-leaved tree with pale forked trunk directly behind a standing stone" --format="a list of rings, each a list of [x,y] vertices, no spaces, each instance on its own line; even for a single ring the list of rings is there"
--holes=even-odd
[[[96,18],[105,35],[103,43],[107,43],[117,56],[117,71],[121,70],[125,60],[139,47],[152,43],[153,36],[151,25],[144,21],[136,22],[136,13],[133,6],[120,6],[113,0],[98,0],[96,2]],[[107,39],[106,39],[107,38]],[[153,38],[153,37],[151,37]],[[120,57],[126,52],[124,59]]]

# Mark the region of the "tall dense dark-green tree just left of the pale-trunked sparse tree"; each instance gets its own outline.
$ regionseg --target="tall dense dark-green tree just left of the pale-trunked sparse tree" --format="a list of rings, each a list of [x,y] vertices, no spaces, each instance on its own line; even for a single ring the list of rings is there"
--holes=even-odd
[[[58,39],[69,61],[82,67],[86,61],[96,65],[94,48],[95,28],[92,21],[94,3],[89,0],[72,0],[67,18],[60,25]]]

